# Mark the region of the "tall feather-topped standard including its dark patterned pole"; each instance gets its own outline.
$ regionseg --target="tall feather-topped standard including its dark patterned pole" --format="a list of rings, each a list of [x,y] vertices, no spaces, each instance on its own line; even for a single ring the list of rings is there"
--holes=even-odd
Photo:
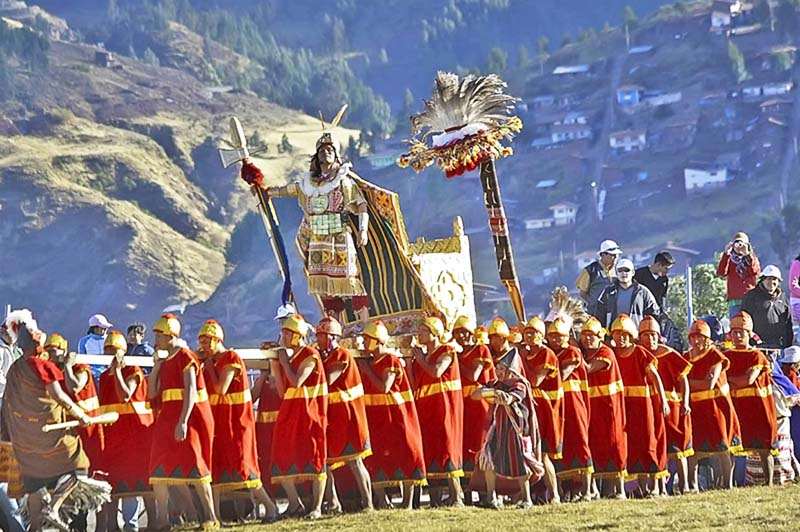
[[[506,83],[494,74],[459,79],[455,74],[439,72],[425,110],[411,116],[409,151],[400,157],[399,164],[420,172],[436,163],[448,179],[480,166],[500,281],[508,290],[517,319],[524,323],[525,306],[494,165],[495,159],[513,153],[500,141],[511,140],[522,129],[522,121],[511,115],[518,100],[505,94],[505,88]]]

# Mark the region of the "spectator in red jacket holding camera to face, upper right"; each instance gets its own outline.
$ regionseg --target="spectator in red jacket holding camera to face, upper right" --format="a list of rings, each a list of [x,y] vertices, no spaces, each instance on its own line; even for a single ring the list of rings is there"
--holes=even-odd
[[[742,310],[742,298],[748,290],[755,288],[760,272],[761,265],[750,245],[750,238],[745,233],[733,235],[733,241],[725,246],[717,266],[717,275],[725,277],[728,282],[726,299],[731,318]]]

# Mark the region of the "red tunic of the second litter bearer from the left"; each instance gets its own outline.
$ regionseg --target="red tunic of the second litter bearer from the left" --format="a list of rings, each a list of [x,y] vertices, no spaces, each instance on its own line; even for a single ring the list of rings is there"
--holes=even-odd
[[[116,423],[103,428],[103,467],[115,494],[142,494],[152,489],[148,481],[148,461],[153,412],[147,403],[147,380],[141,368],[122,368],[122,378],[125,382],[135,378],[137,382],[127,403],[123,402],[117,389],[116,372],[108,368],[100,374],[100,411],[119,414]]]

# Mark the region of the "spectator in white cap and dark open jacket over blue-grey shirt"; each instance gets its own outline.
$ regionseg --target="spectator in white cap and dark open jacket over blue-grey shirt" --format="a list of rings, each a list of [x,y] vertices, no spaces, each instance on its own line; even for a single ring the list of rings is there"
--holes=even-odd
[[[645,316],[658,317],[659,308],[653,294],[633,280],[633,262],[617,263],[617,278],[597,298],[599,320],[610,327],[620,314],[627,314],[639,326]]]

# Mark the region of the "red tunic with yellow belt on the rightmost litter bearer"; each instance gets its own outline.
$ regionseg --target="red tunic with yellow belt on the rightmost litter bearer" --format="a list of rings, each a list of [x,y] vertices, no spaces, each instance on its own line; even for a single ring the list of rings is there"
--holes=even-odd
[[[742,423],[742,447],[747,454],[769,450],[778,455],[778,414],[772,398],[770,366],[767,357],[758,349],[726,351],[730,361],[728,376],[746,377],[751,370],[759,371],[755,382],[742,388],[731,388],[731,400]]]

